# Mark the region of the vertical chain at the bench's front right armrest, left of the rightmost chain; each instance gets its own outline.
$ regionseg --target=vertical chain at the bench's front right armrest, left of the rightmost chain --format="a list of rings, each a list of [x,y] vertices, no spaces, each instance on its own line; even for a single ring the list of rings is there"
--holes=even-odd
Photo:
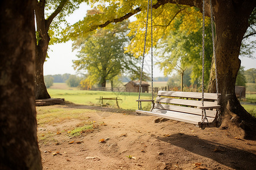
[[[203,67],[202,67],[202,105],[204,106],[204,29],[205,29],[205,4],[204,4],[204,0],[203,0],[203,42],[202,42],[202,48],[203,48],[203,52],[202,52],[202,58],[203,58]],[[202,118],[201,118],[201,128],[203,128],[204,126],[204,121],[206,118],[206,113],[205,113],[205,109],[202,110]]]

